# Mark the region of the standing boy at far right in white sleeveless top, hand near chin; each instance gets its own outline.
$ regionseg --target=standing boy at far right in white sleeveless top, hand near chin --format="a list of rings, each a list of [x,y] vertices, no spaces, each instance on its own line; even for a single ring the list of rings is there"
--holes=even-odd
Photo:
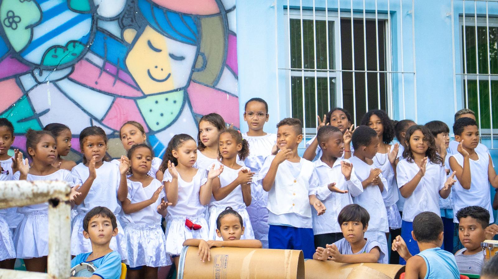
[[[479,130],[474,119],[459,118],[453,124],[453,132],[455,139],[460,142],[459,154],[453,154],[449,159],[451,170],[456,172],[458,179],[453,190],[453,210],[458,211],[469,204],[479,205],[490,212],[489,223],[491,224],[495,219],[488,181],[493,187],[498,188],[498,176],[493,168],[491,156],[477,149]],[[456,217],[453,221],[458,223]]]

